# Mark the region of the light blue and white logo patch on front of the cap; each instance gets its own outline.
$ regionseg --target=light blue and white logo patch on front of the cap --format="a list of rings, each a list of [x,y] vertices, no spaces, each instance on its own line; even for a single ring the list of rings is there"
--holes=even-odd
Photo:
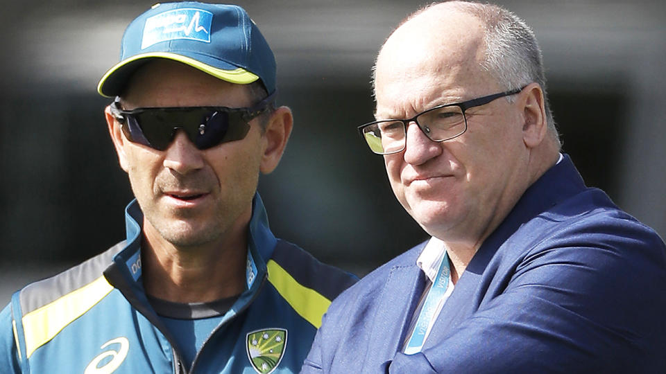
[[[207,10],[184,8],[162,12],[146,19],[141,48],[176,39],[210,43],[213,14]]]

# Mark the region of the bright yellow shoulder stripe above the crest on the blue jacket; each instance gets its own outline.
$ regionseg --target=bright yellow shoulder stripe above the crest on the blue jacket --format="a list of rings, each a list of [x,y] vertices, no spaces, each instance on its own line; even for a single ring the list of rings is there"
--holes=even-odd
[[[321,326],[321,317],[328,310],[331,301],[324,296],[296,282],[278,262],[268,260],[268,282],[271,282],[280,296],[287,300],[293,310],[315,328]]]

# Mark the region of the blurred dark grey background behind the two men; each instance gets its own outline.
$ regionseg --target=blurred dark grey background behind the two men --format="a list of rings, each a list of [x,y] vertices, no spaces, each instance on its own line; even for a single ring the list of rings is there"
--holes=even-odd
[[[132,199],[96,84],[126,25],[154,1],[2,0],[0,303],[124,238]],[[295,127],[259,182],[271,228],[364,275],[427,238],[356,127],[373,119],[370,67],[428,1],[237,1],[278,60]],[[496,1],[543,48],[563,149],[590,186],[666,234],[666,2]],[[1,306],[0,306],[1,308]]]

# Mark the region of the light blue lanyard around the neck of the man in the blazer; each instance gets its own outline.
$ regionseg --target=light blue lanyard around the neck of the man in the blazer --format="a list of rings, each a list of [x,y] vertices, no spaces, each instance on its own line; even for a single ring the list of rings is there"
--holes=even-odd
[[[446,289],[449,287],[450,273],[449,256],[444,252],[444,257],[442,258],[441,265],[439,265],[437,276],[430,286],[430,290],[428,290],[428,295],[426,296],[425,302],[418,314],[418,319],[414,325],[411,337],[409,337],[409,341],[407,342],[407,347],[404,348],[404,353],[406,355],[413,355],[414,353],[421,351],[421,348],[425,343],[425,336],[430,321],[432,321],[435,312],[437,311],[437,307],[446,294]]]

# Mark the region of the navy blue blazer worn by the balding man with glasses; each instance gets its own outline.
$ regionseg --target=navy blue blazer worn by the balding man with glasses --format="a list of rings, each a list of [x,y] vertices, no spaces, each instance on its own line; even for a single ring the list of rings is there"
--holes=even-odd
[[[525,191],[401,353],[425,243],[343,292],[302,373],[666,373],[666,247],[569,157]]]

